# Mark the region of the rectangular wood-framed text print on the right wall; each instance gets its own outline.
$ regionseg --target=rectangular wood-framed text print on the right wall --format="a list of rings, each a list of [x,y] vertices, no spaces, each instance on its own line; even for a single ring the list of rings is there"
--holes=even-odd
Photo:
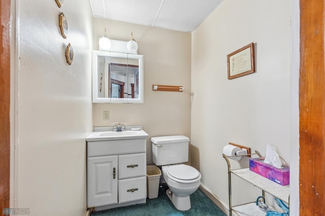
[[[228,80],[255,73],[254,43],[227,55]]]

